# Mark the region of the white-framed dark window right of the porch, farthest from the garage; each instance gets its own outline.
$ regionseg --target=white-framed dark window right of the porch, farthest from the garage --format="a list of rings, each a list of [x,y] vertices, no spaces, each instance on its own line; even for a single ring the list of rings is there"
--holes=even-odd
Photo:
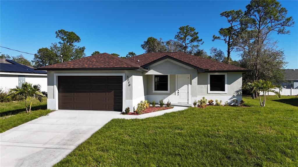
[[[208,74],[208,93],[227,93],[227,74]]]

